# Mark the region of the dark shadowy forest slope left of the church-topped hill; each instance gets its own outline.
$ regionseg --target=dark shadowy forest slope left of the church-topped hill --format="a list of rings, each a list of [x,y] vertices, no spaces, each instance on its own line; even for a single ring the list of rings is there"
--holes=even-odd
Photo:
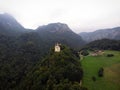
[[[17,43],[15,38],[0,36],[0,90],[11,90],[40,60],[46,51],[32,41]]]

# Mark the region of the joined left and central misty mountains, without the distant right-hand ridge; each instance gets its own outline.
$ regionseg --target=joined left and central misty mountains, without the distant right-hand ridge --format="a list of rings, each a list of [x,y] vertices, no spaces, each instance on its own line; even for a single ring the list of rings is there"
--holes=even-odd
[[[39,26],[36,30],[25,29],[20,25],[14,17],[9,14],[0,14],[0,35],[16,36],[17,42],[25,42],[26,40],[37,41],[37,44],[48,43],[53,45],[56,42],[70,45],[74,48],[79,48],[85,42],[82,38],[74,33],[67,24],[51,23],[44,26]],[[21,38],[21,39],[20,39]],[[49,47],[50,47],[49,46]]]

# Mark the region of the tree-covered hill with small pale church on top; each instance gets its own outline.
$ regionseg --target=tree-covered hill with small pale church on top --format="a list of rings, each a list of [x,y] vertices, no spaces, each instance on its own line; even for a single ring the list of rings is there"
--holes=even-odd
[[[74,51],[61,46],[60,52],[51,49],[41,63],[23,79],[21,90],[83,90],[80,80],[83,71]]]

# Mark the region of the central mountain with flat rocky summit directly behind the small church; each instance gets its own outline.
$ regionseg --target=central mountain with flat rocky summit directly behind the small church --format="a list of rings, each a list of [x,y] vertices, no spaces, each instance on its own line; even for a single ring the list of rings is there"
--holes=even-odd
[[[74,33],[66,24],[51,23],[38,27],[36,32],[40,34],[44,41],[49,43],[60,42],[67,44],[72,48],[80,48],[85,42],[82,38]]]

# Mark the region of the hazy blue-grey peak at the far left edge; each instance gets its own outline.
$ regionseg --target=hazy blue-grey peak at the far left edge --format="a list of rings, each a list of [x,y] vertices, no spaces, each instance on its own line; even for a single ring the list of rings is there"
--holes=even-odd
[[[7,13],[0,14],[0,34],[17,36],[24,31],[26,31],[25,28],[20,25],[14,17]]]

